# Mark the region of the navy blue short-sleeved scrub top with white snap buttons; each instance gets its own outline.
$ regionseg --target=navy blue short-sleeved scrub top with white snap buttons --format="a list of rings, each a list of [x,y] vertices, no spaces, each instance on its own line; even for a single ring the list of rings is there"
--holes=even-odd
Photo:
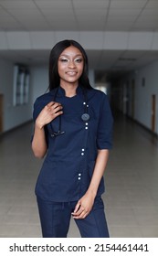
[[[90,121],[83,122],[85,97],[79,86],[71,98],[59,87],[37,98],[33,119],[50,101],[63,106],[61,131],[65,133],[52,137],[52,130],[58,132],[59,117],[45,126],[47,155],[37,178],[36,194],[56,202],[76,201],[90,186],[98,149],[111,149],[112,115],[108,97],[102,91],[86,90]],[[56,95],[56,99],[55,98]],[[52,129],[53,128],[53,129]],[[103,177],[98,196],[104,192]]]

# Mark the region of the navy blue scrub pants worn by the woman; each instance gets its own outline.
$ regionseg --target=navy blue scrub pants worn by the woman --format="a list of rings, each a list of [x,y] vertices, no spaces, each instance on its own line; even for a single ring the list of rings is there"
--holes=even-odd
[[[51,202],[37,197],[37,206],[44,238],[66,238],[71,212],[75,202]],[[101,197],[96,197],[90,214],[85,219],[75,219],[82,238],[109,238]]]

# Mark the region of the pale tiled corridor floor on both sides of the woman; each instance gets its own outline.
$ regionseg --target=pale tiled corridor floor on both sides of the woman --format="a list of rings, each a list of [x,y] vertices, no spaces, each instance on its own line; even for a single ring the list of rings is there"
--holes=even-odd
[[[116,116],[103,199],[111,237],[158,237],[158,143]],[[0,237],[41,237],[34,187],[41,160],[30,146],[32,124],[0,138]],[[73,220],[68,237],[79,237]]]

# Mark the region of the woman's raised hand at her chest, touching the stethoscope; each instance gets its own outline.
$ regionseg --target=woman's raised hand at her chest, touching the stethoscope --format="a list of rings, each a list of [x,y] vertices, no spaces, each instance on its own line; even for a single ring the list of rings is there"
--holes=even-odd
[[[42,129],[47,123],[50,123],[58,115],[62,114],[63,107],[60,103],[50,101],[43,110],[39,113],[36,120],[36,125],[39,129]]]

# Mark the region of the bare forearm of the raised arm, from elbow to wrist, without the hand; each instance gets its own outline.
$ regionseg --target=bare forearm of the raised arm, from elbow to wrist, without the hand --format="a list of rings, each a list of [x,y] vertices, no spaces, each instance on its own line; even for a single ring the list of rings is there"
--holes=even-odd
[[[35,125],[35,133],[32,141],[32,150],[37,158],[43,158],[47,153],[47,143],[44,127]]]

